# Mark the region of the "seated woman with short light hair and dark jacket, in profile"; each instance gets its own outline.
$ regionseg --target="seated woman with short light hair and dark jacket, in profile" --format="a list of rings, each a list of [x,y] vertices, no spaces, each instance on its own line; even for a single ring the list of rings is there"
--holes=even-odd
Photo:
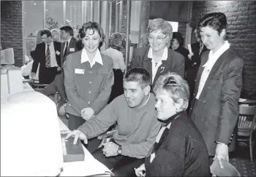
[[[135,170],[140,176],[209,176],[206,144],[194,122],[187,117],[189,86],[176,73],[157,80],[157,117],[163,123],[145,164]]]

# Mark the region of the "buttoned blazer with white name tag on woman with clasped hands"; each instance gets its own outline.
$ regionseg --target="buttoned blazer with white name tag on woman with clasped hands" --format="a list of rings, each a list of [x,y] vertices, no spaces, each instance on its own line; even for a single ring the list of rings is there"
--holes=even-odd
[[[114,82],[113,60],[102,55],[103,66],[81,63],[82,51],[67,55],[64,63],[64,85],[67,94],[67,113],[81,116],[81,110],[91,107],[98,114],[108,103]],[[121,88],[122,89],[122,88]]]

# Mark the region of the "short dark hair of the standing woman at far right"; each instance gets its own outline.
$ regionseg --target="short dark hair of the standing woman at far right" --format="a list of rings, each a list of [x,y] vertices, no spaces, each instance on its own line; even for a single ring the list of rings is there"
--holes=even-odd
[[[213,12],[203,16],[197,23],[197,30],[200,28],[210,26],[220,34],[223,29],[227,29],[227,17],[222,12]]]

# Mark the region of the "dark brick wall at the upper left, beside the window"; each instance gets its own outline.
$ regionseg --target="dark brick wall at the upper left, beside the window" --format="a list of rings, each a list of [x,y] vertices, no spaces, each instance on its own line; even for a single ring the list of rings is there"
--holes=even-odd
[[[12,47],[15,66],[23,65],[22,1],[1,1],[1,47]]]

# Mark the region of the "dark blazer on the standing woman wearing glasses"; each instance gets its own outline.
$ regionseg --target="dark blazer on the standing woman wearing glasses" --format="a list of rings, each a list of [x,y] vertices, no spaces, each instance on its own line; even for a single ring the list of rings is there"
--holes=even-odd
[[[145,68],[146,71],[152,77],[152,63],[151,58],[148,58],[148,50],[149,47],[140,47],[135,49],[134,54],[132,55],[132,61],[130,63],[129,68],[141,67]],[[167,60],[162,61],[162,65],[159,66],[157,70],[157,74],[154,77],[152,88],[156,83],[159,76],[166,74],[167,72],[176,72],[177,74],[181,75],[184,78],[185,72],[185,62],[184,56],[181,55],[179,52],[174,50],[168,49],[168,57]]]

